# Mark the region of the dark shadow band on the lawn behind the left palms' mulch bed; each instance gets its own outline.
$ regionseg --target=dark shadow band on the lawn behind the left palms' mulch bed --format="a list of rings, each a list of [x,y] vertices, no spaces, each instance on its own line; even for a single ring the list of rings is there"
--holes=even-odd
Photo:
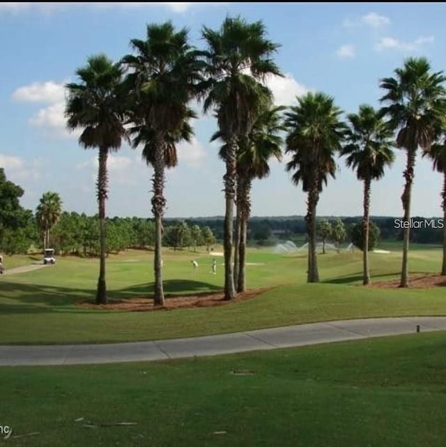
[[[221,287],[201,281],[166,280],[163,282],[164,294],[169,299],[178,295],[197,295],[221,291]],[[109,289],[111,300],[126,298],[151,298],[154,283],[149,282],[123,289]],[[1,281],[0,315],[36,314],[48,312],[89,313],[109,312],[109,310],[88,310],[79,308],[76,303],[94,301],[95,289],[70,289],[68,287],[54,287],[44,285],[20,284],[17,282]],[[1,302],[7,298],[8,302]]]

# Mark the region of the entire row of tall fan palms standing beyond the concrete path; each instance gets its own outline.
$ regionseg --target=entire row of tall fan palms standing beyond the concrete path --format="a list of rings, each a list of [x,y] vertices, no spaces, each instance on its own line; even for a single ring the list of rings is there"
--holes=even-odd
[[[409,59],[396,70],[396,78],[385,78],[387,91],[380,111],[362,105],[358,114],[341,119],[334,99],[324,93],[307,93],[289,108],[276,107],[268,89],[270,76],[282,76],[273,60],[279,49],[268,39],[263,22],[249,23],[241,17],[226,17],[219,29],[203,26],[205,44],[197,50],[190,44],[188,30],[176,30],[171,22],[148,24],[144,39],[132,39],[132,53],[114,63],[104,54],[91,56],[77,70],[79,82],[67,84],[68,128],[82,129],[79,144],[98,148],[97,196],[100,218],[100,275],[97,302],[107,302],[105,285],[105,200],[108,192],[107,156],[123,140],[142,147],[142,158],[153,167],[152,213],[155,220],[154,256],[155,304],[164,304],[161,238],[165,170],[178,164],[176,145],[190,142],[191,120],[196,113],[192,101],[201,102],[203,112],[217,119],[220,158],[226,172],[224,183],[224,294],[231,300],[245,290],[245,248],[251,211],[250,191],[254,179],[268,176],[270,158],[291,156],[286,170],[295,185],[307,193],[309,236],[308,282],[318,281],[316,259],[316,206],[330,176],[334,177],[335,156],[364,182],[364,229],[369,225],[371,181],[380,179],[393,161],[391,147],[406,149],[408,165],[403,194],[405,218],[410,213],[410,188],[418,146],[445,172],[445,144],[435,144],[445,130],[444,77],[431,74],[425,59]],[[385,118],[388,118],[387,120]],[[394,131],[397,140],[392,142]],[[446,174],[445,174],[446,179]],[[445,180],[446,181],[446,180]],[[443,210],[446,209],[443,191]],[[234,226],[234,207],[236,219]],[[445,211],[446,212],[446,211]],[[235,237],[234,237],[235,236]],[[408,230],[405,233],[408,249]],[[233,242],[234,241],[234,242]],[[235,247],[233,246],[235,245]],[[367,248],[367,244],[364,245]],[[406,255],[405,255],[406,256]],[[407,261],[407,257],[405,257]],[[406,262],[405,261],[405,262]],[[445,264],[445,263],[444,263]],[[405,265],[405,266],[404,266]],[[403,264],[407,270],[407,262]],[[443,265],[443,271],[445,266]],[[404,278],[407,278],[407,272]],[[369,282],[367,250],[364,250],[364,284]],[[401,285],[403,282],[401,276]]]

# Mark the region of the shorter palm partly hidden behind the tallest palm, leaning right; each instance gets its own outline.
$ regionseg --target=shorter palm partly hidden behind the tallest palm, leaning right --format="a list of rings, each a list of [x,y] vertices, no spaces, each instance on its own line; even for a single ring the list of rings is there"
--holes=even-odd
[[[245,291],[245,254],[247,241],[247,223],[251,215],[251,188],[254,179],[264,179],[270,174],[270,158],[282,159],[282,137],[277,135],[285,130],[280,112],[285,107],[265,105],[249,135],[238,142],[237,156],[237,199],[236,229],[234,234],[235,252],[233,278],[238,292]],[[211,141],[222,138],[220,131],[215,132]],[[220,148],[220,158],[225,160],[228,144]]]

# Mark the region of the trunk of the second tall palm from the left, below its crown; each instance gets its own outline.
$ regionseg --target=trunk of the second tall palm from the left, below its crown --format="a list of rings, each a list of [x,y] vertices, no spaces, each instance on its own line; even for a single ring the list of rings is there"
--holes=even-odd
[[[162,215],[166,199],[164,198],[164,139],[161,135],[156,137],[154,173],[152,178],[153,197],[152,213],[155,216],[155,257],[153,259],[153,271],[155,272],[155,305],[164,305],[164,290],[162,287]]]

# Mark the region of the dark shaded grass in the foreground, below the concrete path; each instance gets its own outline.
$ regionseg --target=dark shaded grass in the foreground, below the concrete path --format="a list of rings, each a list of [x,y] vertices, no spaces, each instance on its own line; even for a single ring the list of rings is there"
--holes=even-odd
[[[0,425],[18,436],[38,432],[0,445],[444,447],[445,370],[445,333],[159,363],[0,368]]]

